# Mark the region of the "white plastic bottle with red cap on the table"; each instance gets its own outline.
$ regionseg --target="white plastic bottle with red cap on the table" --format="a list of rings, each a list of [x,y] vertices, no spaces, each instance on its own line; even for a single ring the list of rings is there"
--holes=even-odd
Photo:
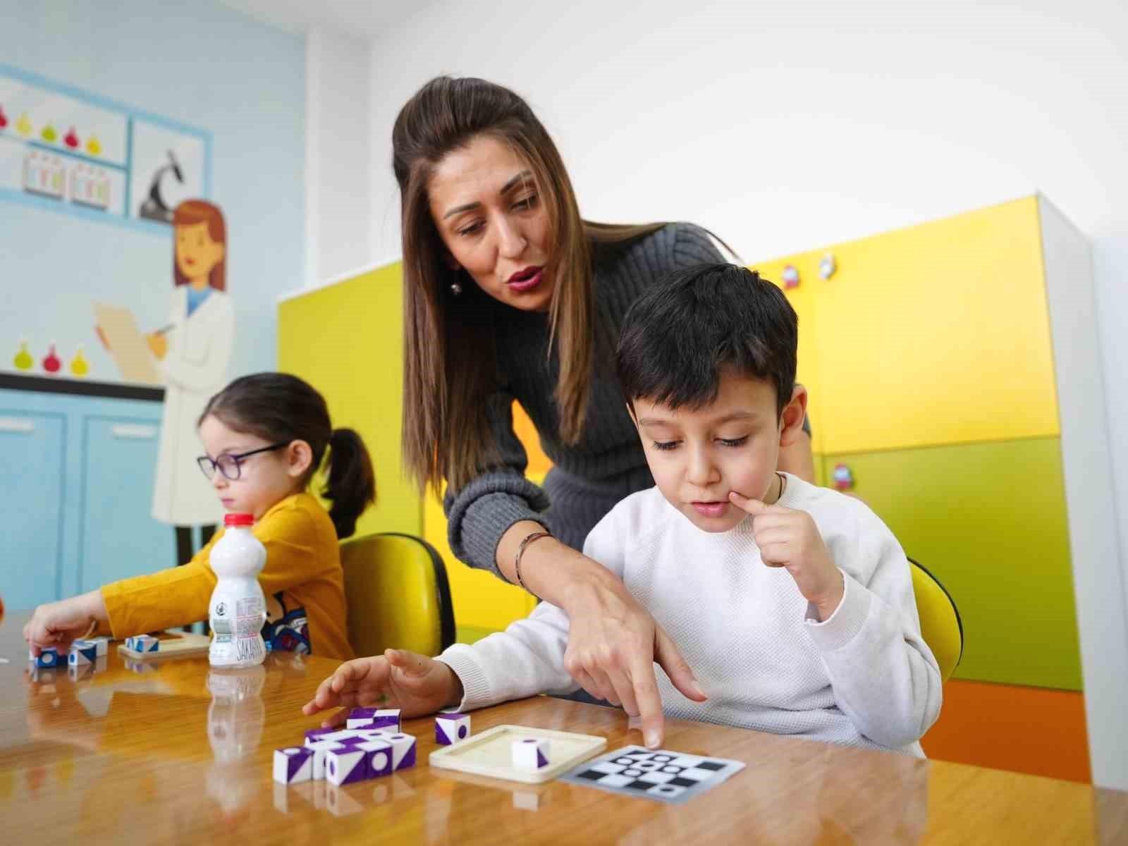
[[[250,532],[254,522],[250,514],[224,515],[223,537],[211,550],[211,569],[218,579],[208,606],[212,667],[255,667],[266,658],[262,635],[266,598],[258,584],[266,548]]]

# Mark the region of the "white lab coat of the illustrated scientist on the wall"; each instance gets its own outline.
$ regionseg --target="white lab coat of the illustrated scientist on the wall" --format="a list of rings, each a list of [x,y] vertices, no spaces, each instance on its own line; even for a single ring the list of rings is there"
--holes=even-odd
[[[171,526],[214,525],[223,508],[196,466],[204,452],[196,423],[208,400],[227,385],[235,310],[226,293],[213,290],[190,317],[187,285],[177,285],[168,321],[168,352],[157,362],[165,378],[165,408],[152,515]]]

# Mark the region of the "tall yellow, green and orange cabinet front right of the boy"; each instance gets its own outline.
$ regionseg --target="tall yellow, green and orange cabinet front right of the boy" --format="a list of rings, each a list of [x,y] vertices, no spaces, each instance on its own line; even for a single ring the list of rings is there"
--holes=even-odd
[[[825,484],[848,467],[853,493],[962,616],[963,660],[949,682],[959,710],[945,708],[942,742],[926,738],[926,750],[1085,778],[1043,248],[1039,201],[1028,197],[752,266],[777,284],[788,265],[799,272],[799,285],[784,288],[800,318],[799,377]],[[823,277],[828,255],[835,271]],[[992,695],[978,682],[995,685]],[[1036,761],[1001,755],[997,739],[969,740],[980,726],[997,730],[975,711],[999,700],[1069,748]],[[1031,713],[1047,702],[1054,708]],[[1063,714],[1081,723],[1055,723]]]

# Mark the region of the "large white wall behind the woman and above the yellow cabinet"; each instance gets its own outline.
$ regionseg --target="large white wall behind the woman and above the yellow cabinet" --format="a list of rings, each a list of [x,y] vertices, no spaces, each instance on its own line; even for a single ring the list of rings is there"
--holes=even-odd
[[[396,112],[442,72],[529,99],[585,217],[691,220],[749,262],[1041,191],[1093,245],[1128,538],[1128,7],[1021,6],[443,0],[372,51],[373,255],[399,253]],[[1128,602],[1123,563],[1108,590]],[[1112,666],[1126,602],[1078,615]],[[1122,708],[1128,679],[1101,681],[1090,697]],[[1128,732],[1093,714],[1094,778],[1128,787]]]

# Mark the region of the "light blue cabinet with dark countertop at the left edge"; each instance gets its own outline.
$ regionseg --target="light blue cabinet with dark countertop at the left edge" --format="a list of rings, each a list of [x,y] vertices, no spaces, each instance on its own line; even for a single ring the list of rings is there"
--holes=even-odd
[[[0,597],[34,608],[176,563],[152,519],[162,391],[0,373]]]

